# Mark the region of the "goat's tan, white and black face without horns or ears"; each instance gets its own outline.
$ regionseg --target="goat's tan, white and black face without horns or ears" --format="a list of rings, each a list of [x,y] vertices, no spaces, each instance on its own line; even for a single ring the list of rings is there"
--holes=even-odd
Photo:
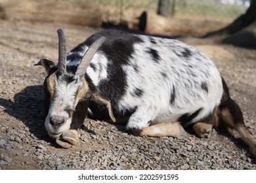
[[[49,135],[58,137],[83,123],[91,99],[91,90],[83,76],[57,75],[45,78],[45,127]]]

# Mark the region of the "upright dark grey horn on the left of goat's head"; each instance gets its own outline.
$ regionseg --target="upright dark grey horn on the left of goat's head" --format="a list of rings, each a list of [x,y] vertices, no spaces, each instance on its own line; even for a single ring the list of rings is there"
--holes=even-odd
[[[62,29],[58,33],[58,73],[60,75],[66,72],[66,39]]]

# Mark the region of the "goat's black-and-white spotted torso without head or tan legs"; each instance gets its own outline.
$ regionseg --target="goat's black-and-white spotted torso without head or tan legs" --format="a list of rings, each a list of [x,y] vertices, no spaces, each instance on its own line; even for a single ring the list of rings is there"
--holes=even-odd
[[[110,41],[96,52],[87,76],[111,101],[117,122],[128,120],[127,130],[160,122],[203,122],[219,105],[223,84],[215,65],[174,39],[102,31],[74,48],[68,65],[76,65],[77,56],[102,36]],[[99,105],[89,109],[93,117],[109,120]]]

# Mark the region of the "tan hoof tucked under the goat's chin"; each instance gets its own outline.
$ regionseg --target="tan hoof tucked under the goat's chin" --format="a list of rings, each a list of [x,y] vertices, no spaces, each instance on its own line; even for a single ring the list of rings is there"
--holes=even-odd
[[[70,129],[68,131],[65,131],[64,133],[62,133],[62,135],[60,135],[60,137],[56,138],[56,143],[59,146],[62,146],[62,148],[71,148],[72,144],[78,144],[79,142],[79,133],[74,130],[74,129]]]

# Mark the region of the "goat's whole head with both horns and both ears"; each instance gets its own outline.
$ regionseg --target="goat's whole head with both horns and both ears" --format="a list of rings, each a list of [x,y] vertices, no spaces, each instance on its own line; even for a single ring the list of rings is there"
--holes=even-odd
[[[102,97],[100,91],[85,78],[87,67],[98,48],[106,40],[101,37],[95,41],[81,59],[78,67],[66,65],[66,40],[62,29],[58,29],[58,63],[41,59],[35,65],[45,67],[47,77],[43,84],[45,90],[45,127],[51,137],[56,139],[65,131],[77,129],[87,116],[91,100],[105,105],[110,118],[115,121],[110,101]]]

